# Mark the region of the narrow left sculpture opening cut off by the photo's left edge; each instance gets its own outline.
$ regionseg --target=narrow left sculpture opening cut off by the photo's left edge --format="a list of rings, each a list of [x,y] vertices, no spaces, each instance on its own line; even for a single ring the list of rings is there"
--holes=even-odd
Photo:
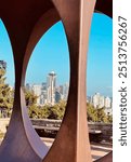
[[[4,138],[14,102],[14,60],[10,38],[0,19],[0,144]]]

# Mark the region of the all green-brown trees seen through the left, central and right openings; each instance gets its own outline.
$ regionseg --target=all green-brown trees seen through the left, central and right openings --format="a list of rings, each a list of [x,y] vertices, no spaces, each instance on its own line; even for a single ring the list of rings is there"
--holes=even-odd
[[[13,94],[8,84],[5,84],[5,70],[0,69],[0,110],[5,112],[8,117],[11,116],[12,107],[13,107]],[[27,90],[25,91],[25,99],[26,106],[28,109],[29,118],[34,119],[63,119],[66,102],[61,100],[58,104],[54,106],[37,106],[37,96]],[[113,122],[113,117],[107,116],[104,111],[104,108],[94,108],[91,104],[87,104],[87,114],[88,121],[93,122],[104,122],[110,123]]]

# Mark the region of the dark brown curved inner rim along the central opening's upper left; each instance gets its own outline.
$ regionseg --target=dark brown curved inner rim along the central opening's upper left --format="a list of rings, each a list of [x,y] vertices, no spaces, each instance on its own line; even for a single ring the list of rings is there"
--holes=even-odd
[[[29,37],[29,41],[26,48],[25,56],[24,56],[24,65],[23,65],[23,83],[25,82],[25,73],[26,68],[31,56],[32,50],[35,49],[36,44],[40,40],[40,38],[49,30],[55,23],[60,21],[60,16],[55,9],[51,9],[47,11],[37,22],[35,25],[32,32]]]

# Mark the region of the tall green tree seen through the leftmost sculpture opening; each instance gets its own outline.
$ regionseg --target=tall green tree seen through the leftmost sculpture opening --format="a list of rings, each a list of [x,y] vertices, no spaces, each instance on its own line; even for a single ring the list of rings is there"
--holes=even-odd
[[[9,84],[5,83],[5,69],[0,67],[0,109],[3,116],[11,116],[13,106],[13,92],[11,91]]]

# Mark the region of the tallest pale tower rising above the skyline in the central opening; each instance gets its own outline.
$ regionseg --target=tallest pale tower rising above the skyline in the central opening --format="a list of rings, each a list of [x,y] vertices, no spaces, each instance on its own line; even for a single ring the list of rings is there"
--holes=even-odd
[[[51,71],[47,79],[48,103],[54,105],[55,103],[55,87],[56,87],[56,73]]]

